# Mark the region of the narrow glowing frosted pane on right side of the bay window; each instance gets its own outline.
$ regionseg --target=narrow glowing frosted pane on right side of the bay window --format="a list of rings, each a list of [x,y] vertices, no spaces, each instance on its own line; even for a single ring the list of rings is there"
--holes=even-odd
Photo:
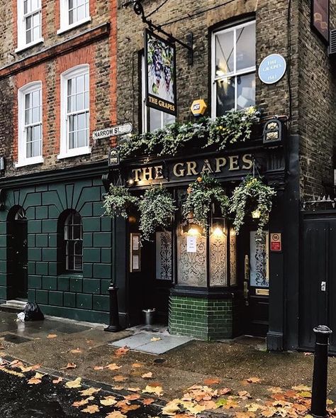
[[[228,238],[224,233],[210,236],[210,285],[228,285]]]

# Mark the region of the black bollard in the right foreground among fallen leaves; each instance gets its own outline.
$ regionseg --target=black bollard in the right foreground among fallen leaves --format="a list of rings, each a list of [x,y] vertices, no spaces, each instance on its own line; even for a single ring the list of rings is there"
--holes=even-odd
[[[331,329],[325,325],[314,328],[315,357],[310,413],[316,418],[327,416],[327,352]]]

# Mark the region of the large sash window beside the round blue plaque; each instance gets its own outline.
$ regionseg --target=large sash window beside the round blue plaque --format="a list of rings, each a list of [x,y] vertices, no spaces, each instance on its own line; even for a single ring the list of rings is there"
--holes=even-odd
[[[213,33],[213,117],[254,106],[255,71],[255,21]]]

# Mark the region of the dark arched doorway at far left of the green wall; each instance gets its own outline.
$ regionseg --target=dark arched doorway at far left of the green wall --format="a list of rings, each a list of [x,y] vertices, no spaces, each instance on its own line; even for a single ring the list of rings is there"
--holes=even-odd
[[[7,218],[7,272],[9,295],[12,299],[27,299],[28,295],[28,230],[26,212],[16,206]]]

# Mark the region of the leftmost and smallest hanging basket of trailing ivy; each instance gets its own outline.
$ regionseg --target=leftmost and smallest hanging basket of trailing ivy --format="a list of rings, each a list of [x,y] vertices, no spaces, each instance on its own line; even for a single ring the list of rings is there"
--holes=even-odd
[[[103,207],[108,216],[123,216],[128,218],[128,210],[131,206],[137,206],[139,203],[138,197],[130,194],[130,191],[125,186],[111,185],[108,194],[103,199]]]

